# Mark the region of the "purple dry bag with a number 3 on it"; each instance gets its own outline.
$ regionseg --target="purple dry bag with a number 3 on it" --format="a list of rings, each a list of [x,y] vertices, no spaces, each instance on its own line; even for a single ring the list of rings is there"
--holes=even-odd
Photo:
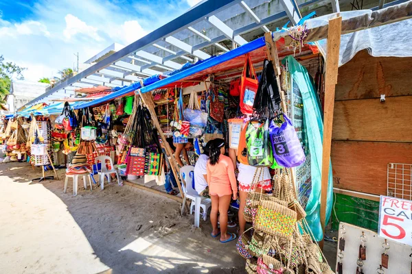
[[[277,164],[284,167],[300,166],[305,162],[305,152],[292,122],[284,115],[285,123],[278,127],[273,121],[269,127],[273,156]]]

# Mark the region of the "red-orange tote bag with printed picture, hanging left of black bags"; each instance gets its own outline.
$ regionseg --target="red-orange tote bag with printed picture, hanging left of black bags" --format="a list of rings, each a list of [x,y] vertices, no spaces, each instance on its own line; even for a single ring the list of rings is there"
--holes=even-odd
[[[249,53],[244,58],[244,67],[240,82],[240,111],[243,114],[253,113],[253,102],[258,92],[259,81]]]

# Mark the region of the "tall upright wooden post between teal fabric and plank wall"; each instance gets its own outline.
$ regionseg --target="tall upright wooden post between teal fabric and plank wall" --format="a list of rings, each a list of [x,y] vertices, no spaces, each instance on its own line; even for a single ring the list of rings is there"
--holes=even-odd
[[[321,225],[325,232],[326,202],[328,196],[328,179],[330,147],[332,144],[332,124],[334,111],[335,86],[338,82],[339,48],[341,46],[342,17],[330,19],[328,28],[328,45],[326,55],[325,106],[323,108],[323,151],[321,175]],[[321,241],[323,247],[323,240]]]

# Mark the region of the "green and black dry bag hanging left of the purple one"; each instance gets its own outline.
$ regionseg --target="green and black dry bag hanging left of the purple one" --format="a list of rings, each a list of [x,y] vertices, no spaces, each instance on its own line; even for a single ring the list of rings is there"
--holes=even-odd
[[[247,160],[251,166],[272,166],[273,164],[268,125],[268,119],[252,120],[247,125]]]

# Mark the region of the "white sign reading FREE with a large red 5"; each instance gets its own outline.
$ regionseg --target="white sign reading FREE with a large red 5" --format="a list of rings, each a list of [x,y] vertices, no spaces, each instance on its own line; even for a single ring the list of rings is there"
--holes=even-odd
[[[412,246],[412,201],[380,196],[378,234]]]

